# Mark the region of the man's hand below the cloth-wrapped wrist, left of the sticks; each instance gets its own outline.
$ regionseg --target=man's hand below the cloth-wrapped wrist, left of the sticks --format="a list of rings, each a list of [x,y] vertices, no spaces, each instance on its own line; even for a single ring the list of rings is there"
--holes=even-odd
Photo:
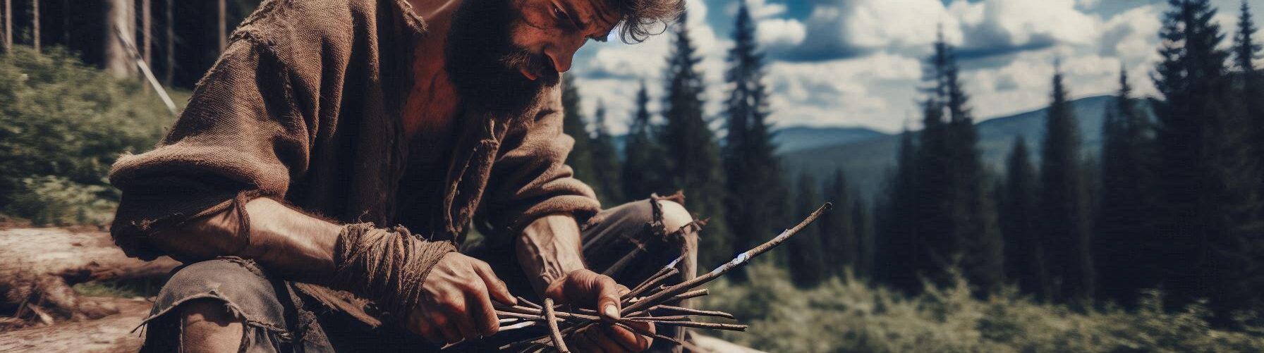
[[[436,343],[493,335],[501,329],[492,300],[514,305],[509,289],[478,258],[449,252],[421,285],[407,327]]]

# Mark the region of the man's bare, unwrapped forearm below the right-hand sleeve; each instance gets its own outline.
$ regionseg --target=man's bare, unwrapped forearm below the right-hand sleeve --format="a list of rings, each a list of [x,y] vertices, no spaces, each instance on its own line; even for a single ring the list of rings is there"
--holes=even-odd
[[[579,224],[570,214],[554,214],[531,222],[517,238],[518,265],[536,292],[575,270],[583,270]]]

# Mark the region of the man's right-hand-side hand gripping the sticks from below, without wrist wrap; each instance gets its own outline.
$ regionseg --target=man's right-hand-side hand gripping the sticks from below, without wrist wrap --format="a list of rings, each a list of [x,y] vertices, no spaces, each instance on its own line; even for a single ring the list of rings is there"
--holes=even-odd
[[[545,290],[545,296],[560,304],[578,304],[602,313],[609,320],[619,319],[619,296],[628,292],[628,287],[614,282],[609,276],[603,276],[589,270],[575,270],[566,276],[557,279]],[[645,332],[653,333],[653,324],[629,323]],[[570,344],[576,352],[641,352],[650,348],[653,338],[638,335],[626,328],[611,324],[589,327],[589,329],[575,333]]]

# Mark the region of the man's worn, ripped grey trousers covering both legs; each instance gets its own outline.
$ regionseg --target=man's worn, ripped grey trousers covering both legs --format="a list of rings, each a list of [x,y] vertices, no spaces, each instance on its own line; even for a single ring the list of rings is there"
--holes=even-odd
[[[653,212],[650,200],[638,200],[598,213],[585,223],[581,232],[586,245],[585,258],[594,271],[604,271],[605,257],[621,258],[638,253],[627,271],[614,279],[624,285],[643,281],[655,271],[680,255],[680,238],[665,236],[653,224],[661,224],[661,213]],[[623,240],[598,242],[594,240]],[[498,276],[509,285],[509,291],[523,298],[538,298],[521,276],[522,269],[506,253],[503,247],[482,243],[468,245],[463,252],[487,261]],[[163,286],[149,319],[143,352],[174,352],[179,344],[179,323],[176,308],[192,299],[221,300],[230,313],[246,320],[241,352],[435,352],[437,347],[423,338],[408,333],[393,323],[373,327],[362,323],[345,311],[329,310],[302,291],[291,289],[298,284],[287,282],[259,270],[250,261],[217,258],[178,269]],[[293,294],[293,298],[291,298]],[[305,319],[313,318],[313,319]],[[672,334],[672,328],[660,328],[661,334]],[[489,352],[504,342],[521,335],[538,335],[537,332],[506,332],[492,339],[469,343],[445,352]],[[661,348],[656,344],[656,349]]]

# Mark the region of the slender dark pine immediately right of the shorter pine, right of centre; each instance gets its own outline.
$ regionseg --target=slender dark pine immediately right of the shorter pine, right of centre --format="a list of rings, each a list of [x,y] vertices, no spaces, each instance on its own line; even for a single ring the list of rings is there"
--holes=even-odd
[[[1093,267],[1078,124],[1058,71],[1040,158],[1040,219],[1049,270],[1060,284],[1054,295],[1083,304],[1093,298]]]

